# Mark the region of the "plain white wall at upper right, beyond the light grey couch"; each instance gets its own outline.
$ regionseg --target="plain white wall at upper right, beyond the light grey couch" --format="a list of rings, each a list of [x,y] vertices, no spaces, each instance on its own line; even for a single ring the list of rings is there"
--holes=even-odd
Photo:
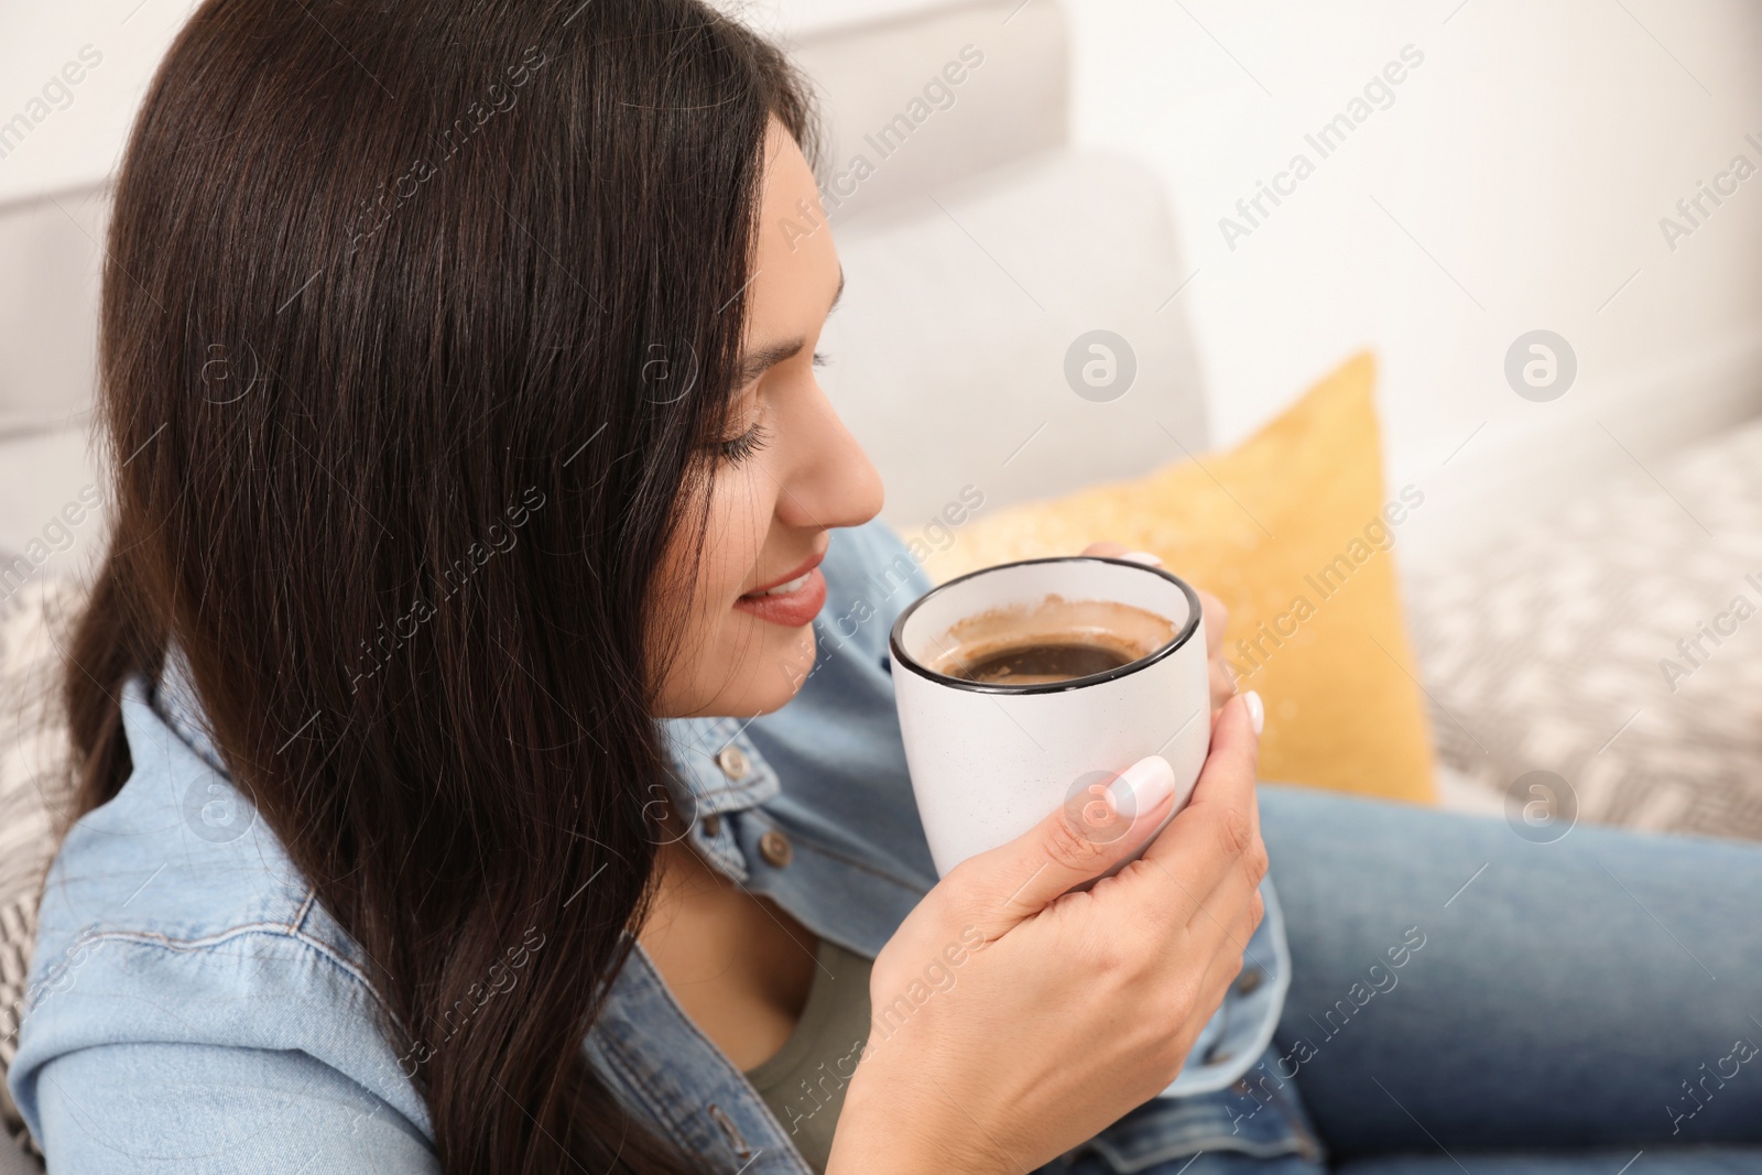
[[[1507,483],[1533,506],[1632,469],[1610,433],[1644,462],[1762,410],[1762,174],[1674,252],[1658,227],[1734,155],[1762,167],[1744,141],[1762,141],[1762,5],[1071,7],[1077,136],[1145,157],[1168,185],[1219,440],[1360,345],[1383,361],[1390,476],[1447,497],[1491,502]],[[1406,44],[1424,63],[1394,104],[1232,250],[1219,218],[1295,151],[1320,159],[1304,134]],[[1579,358],[1552,403],[1501,372],[1533,328]]]

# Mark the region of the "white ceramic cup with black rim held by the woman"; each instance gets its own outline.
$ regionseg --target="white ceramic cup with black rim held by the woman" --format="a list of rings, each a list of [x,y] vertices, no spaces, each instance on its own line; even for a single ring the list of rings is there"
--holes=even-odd
[[[1170,620],[1175,638],[1117,669],[1040,685],[967,682],[929,668],[959,620],[1048,595],[1144,608]],[[1126,835],[1133,812],[1096,807],[1101,789],[1159,754],[1173,768],[1175,802],[1154,831],[1135,833],[1142,844],[1126,858],[1135,860],[1186,807],[1205,765],[1210,680],[1200,599],[1159,567],[1098,555],[985,567],[909,604],[888,652],[906,765],[939,876],[1061,807],[1092,839]]]

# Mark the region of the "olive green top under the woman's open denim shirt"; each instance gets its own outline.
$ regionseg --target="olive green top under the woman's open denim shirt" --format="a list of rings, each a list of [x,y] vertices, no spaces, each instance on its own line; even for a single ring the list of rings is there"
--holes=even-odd
[[[870,960],[821,939],[816,964],[795,1032],[775,1057],[747,1069],[747,1080],[807,1164],[823,1175],[844,1087],[869,1039]]]

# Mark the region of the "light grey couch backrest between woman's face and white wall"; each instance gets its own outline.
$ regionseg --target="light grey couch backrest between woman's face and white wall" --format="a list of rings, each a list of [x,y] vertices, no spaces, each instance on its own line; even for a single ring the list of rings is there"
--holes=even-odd
[[[1071,146],[1054,0],[821,32],[796,60],[826,99],[821,197],[848,278],[823,382],[888,521],[913,534],[969,486],[990,509],[1205,447],[1166,192]],[[1121,382],[1091,388],[1110,361]]]

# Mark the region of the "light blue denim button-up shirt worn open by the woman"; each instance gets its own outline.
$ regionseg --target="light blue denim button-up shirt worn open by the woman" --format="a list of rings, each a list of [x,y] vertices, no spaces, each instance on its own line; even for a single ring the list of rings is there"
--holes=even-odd
[[[930,583],[879,523],[833,532],[823,569],[800,696],[754,721],[670,722],[675,791],[715,868],[872,958],[936,883],[886,662],[888,627]],[[437,1171],[359,948],[227,780],[176,657],[160,682],[127,685],[122,717],[134,773],[51,868],[11,1071],[51,1170]],[[1173,1173],[1196,1150],[1311,1154],[1300,1112],[1244,1119],[1226,1099],[1269,1050],[1290,981],[1270,881],[1262,893],[1242,978],[1179,1080],[1092,1140],[1115,1170]],[[541,934],[511,948],[513,983],[529,950]],[[640,946],[585,1050],[703,1170],[809,1170]]]

